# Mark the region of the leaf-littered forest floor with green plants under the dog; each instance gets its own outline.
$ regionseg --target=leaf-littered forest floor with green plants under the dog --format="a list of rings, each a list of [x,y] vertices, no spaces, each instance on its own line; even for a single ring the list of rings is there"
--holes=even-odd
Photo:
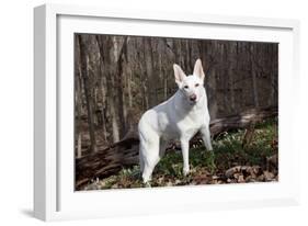
[[[181,150],[168,150],[155,168],[151,187],[266,182],[278,180],[277,118],[255,125],[243,145],[246,129],[225,132],[213,140],[214,151],[194,145],[190,149],[190,174],[183,176]],[[142,188],[139,166],[92,181],[83,190]]]

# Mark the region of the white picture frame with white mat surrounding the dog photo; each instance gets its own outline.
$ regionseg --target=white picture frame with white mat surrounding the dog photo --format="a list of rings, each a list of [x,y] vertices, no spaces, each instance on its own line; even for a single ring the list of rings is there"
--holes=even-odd
[[[287,94],[297,94],[298,21],[44,4],[34,10],[34,29],[35,217],[57,221],[299,203],[299,149],[292,125],[296,112]],[[75,32],[280,42],[280,181],[75,192]]]

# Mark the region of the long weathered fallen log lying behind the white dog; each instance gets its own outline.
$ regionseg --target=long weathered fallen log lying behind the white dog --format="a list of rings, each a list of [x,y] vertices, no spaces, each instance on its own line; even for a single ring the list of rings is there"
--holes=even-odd
[[[216,118],[210,122],[212,136],[223,132],[246,128],[252,123],[262,122],[265,118],[277,116],[277,108],[251,109],[240,114]],[[193,140],[198,140],[196,135]],[[171,144],[168,148],[174,148]],[[107,148],[98,146],[98,151],[76,159],[76,189],[82,187],[96,178],[106,178],[118,172],[123,167],[138,163],[139,138],[137,126],[130,129],[119,142]]]

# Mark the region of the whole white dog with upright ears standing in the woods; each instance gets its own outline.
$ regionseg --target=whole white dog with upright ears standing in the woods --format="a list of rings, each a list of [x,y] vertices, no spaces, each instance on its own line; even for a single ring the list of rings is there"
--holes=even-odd
[[[193,75],[185,76],[175,64],[173,69],[179,90],[166,102],[144,113],[138,124],[140,171],[145,183],[151,179],[170,139],[181,142],[184,174],[190,172],[190,139],[197,132],[201,132],[206,149],[213,149],[201,59],[196,60]]]

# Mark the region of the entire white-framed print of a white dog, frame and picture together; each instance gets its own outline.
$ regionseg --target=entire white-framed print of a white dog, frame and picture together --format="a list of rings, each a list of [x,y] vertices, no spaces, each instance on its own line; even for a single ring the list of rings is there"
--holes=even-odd
[[[34,15],[37,218],[298,203],[297,21]]]

